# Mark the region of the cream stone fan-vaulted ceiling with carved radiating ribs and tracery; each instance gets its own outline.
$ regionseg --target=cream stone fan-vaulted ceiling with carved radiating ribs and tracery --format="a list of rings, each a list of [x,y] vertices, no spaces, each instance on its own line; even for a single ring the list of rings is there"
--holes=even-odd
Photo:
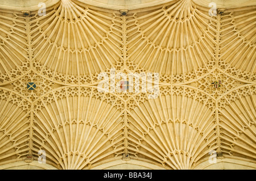
[[[46,16],[0,9],[0,166],[45,150],[57,169],[123,155],[195,169],[216,150],[256,169],[256,7],[208,11],[191,0],[127,15],[71,0]],[[98,92],[111,68],[159,73],[158,98]]]

